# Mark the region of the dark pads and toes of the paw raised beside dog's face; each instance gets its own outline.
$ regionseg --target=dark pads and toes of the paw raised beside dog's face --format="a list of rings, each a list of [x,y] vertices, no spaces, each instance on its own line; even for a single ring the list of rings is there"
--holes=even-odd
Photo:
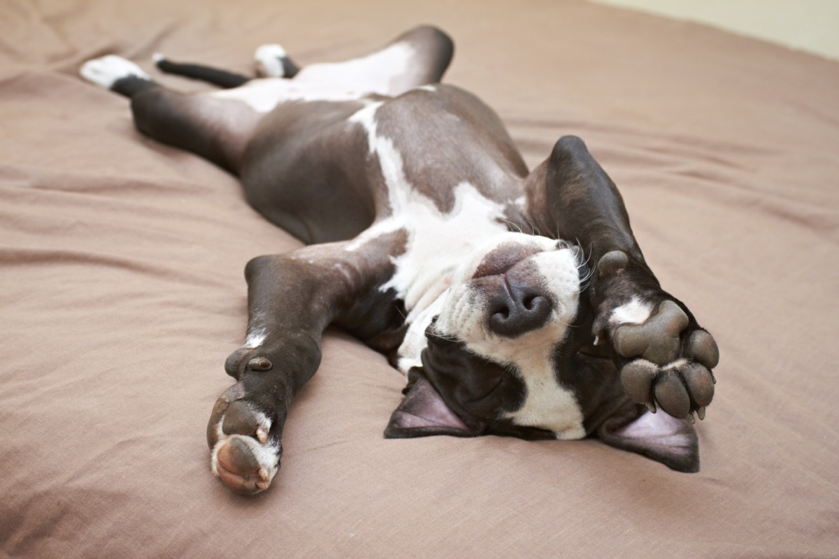
[[[711,334],[690,328],[678,304],[665,299],[643,322],[618,324],[612,343],[618,355],[630,359],[621,369],[621,383],[633,401],[689,422],[694,412],[705,418],[714,396],[711,370],[719,350]]]

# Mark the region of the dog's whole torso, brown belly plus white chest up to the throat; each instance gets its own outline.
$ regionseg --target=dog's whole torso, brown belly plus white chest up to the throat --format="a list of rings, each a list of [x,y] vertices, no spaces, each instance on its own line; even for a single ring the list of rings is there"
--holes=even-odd
[[[248,147],[242,182],[259,211],[307,243],[352,239],[348,251],[365,251],[404,232],[379,288],[404,303],[398,365],[407,372],[455,268],[511,224],[527,226],[526,171],[498,116],[434,85],[396,98],[280,104]]]

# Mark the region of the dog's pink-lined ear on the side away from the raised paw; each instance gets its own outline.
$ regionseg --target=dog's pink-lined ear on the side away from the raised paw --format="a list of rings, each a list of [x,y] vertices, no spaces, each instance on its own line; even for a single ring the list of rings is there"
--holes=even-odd
[[[386,438],[430,437],[451,435],[452,437],[477,437],[475,430],[466,426],[435,390],[423,372],[414,367],[408,373],[408,386],[404,400],[390,416],[384,430]]]

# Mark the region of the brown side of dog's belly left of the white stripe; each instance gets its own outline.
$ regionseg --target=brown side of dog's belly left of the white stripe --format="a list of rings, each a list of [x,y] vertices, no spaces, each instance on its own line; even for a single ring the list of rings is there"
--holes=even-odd
[[[307,244],[352,239],[373,223],[366,140],[348,119],[362,101],[289,101],[264,117],[243,158],[248,202]]]

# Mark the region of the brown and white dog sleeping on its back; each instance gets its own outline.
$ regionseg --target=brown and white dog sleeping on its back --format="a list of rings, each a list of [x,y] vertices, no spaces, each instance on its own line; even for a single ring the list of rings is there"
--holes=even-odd
[[[207,427],[212,472],[237,493],[277,474],[330,324],[406,375],[385,437],[597,437],[699,469],[715,340],[659,285],[585,143],[560,137],[529,170],[489,107],[440,83],[453,51],[423,26],[303,68],[265,45],[256,78],[155,55],[221,87],[193,95],[114,55],[81,68],[130,98],[139,132],[234,173],[307,244],[245,268],[248,332],[225,363],[237,382]]]

